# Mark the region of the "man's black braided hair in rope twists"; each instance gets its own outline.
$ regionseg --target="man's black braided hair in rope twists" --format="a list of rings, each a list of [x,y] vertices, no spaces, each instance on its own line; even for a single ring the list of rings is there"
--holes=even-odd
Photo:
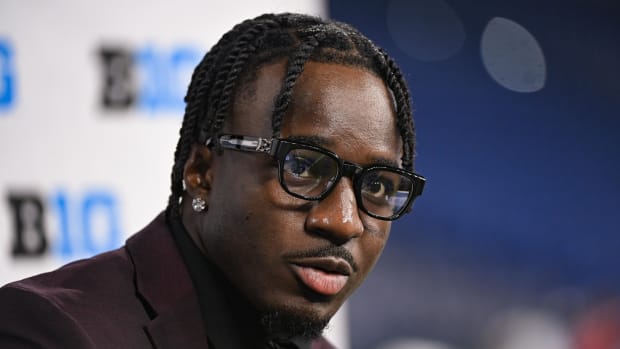
[[[403,140],[402,166],[413,169],[415,128],[411,98],[403,74],[385,51],[352,26],[300,14],[265,14],[237,24],[198,64],[185,96],[185,115],[174,154],[168,206],[179,213],[183,168],[192,145],[217,136],[244,79],[263,64],[287,59],[287,69],[272,113],[272,136],[280,135],[293,87],[308,60],[359,67],[382,78],[396,104],[396,125]]]

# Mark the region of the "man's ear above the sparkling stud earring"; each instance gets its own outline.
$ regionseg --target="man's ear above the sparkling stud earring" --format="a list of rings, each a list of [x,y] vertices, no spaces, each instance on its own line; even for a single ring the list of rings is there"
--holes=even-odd
[[[194,144],[183,167],[185,191],[192,197],[207,199],[213,184],[213,152],[207,146]]]

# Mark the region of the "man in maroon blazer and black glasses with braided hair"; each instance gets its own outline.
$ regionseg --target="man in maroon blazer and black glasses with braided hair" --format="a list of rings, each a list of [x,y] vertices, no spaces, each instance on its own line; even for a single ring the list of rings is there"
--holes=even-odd
[[[3,287],[0,347],[332,347],[321,331],[424,185],[400,71],[348,25],[263,15],[186,102],[166,212]]]

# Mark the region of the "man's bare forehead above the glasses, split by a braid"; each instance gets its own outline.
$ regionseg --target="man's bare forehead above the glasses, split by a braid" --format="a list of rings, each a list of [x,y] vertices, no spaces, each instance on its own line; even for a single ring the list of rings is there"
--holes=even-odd
[[[283,62],[265,65],[242,89],[233,107],[234,132],[271,134],[273,101],[285,69]],[[340,64],[304,65],[282,120],[281,136],[322,139],[321,145],[361,163],[374,157],[396,160],[402,154],[394,102],[384,81],[363,68]]]

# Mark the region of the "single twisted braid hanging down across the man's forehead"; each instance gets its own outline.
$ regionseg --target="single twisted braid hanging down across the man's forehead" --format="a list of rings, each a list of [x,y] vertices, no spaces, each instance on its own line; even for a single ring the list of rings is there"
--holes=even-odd
[[[280,93],[276,97],[276,102],[274,105],[273,116],[271,121],[271,127],[273,132],[273,137],[280,136],[280,126],[282,124],[282,117],[284,116],[284,112],[291,101],[291,96],[293,95],[293,87],[297,82],[297,78],[301,75],[304,70],[304,64],[312,54],[312,51],[319,45],[319,39],[323,37],[315,37],[315,35],[311,35],[306,39],[305,42],[302,42],[299,45],[298,51],[291,57],[288,68],[286,69],[286,75],[284,78],[284,83],[282,84],[282,88],[280,89]]]

